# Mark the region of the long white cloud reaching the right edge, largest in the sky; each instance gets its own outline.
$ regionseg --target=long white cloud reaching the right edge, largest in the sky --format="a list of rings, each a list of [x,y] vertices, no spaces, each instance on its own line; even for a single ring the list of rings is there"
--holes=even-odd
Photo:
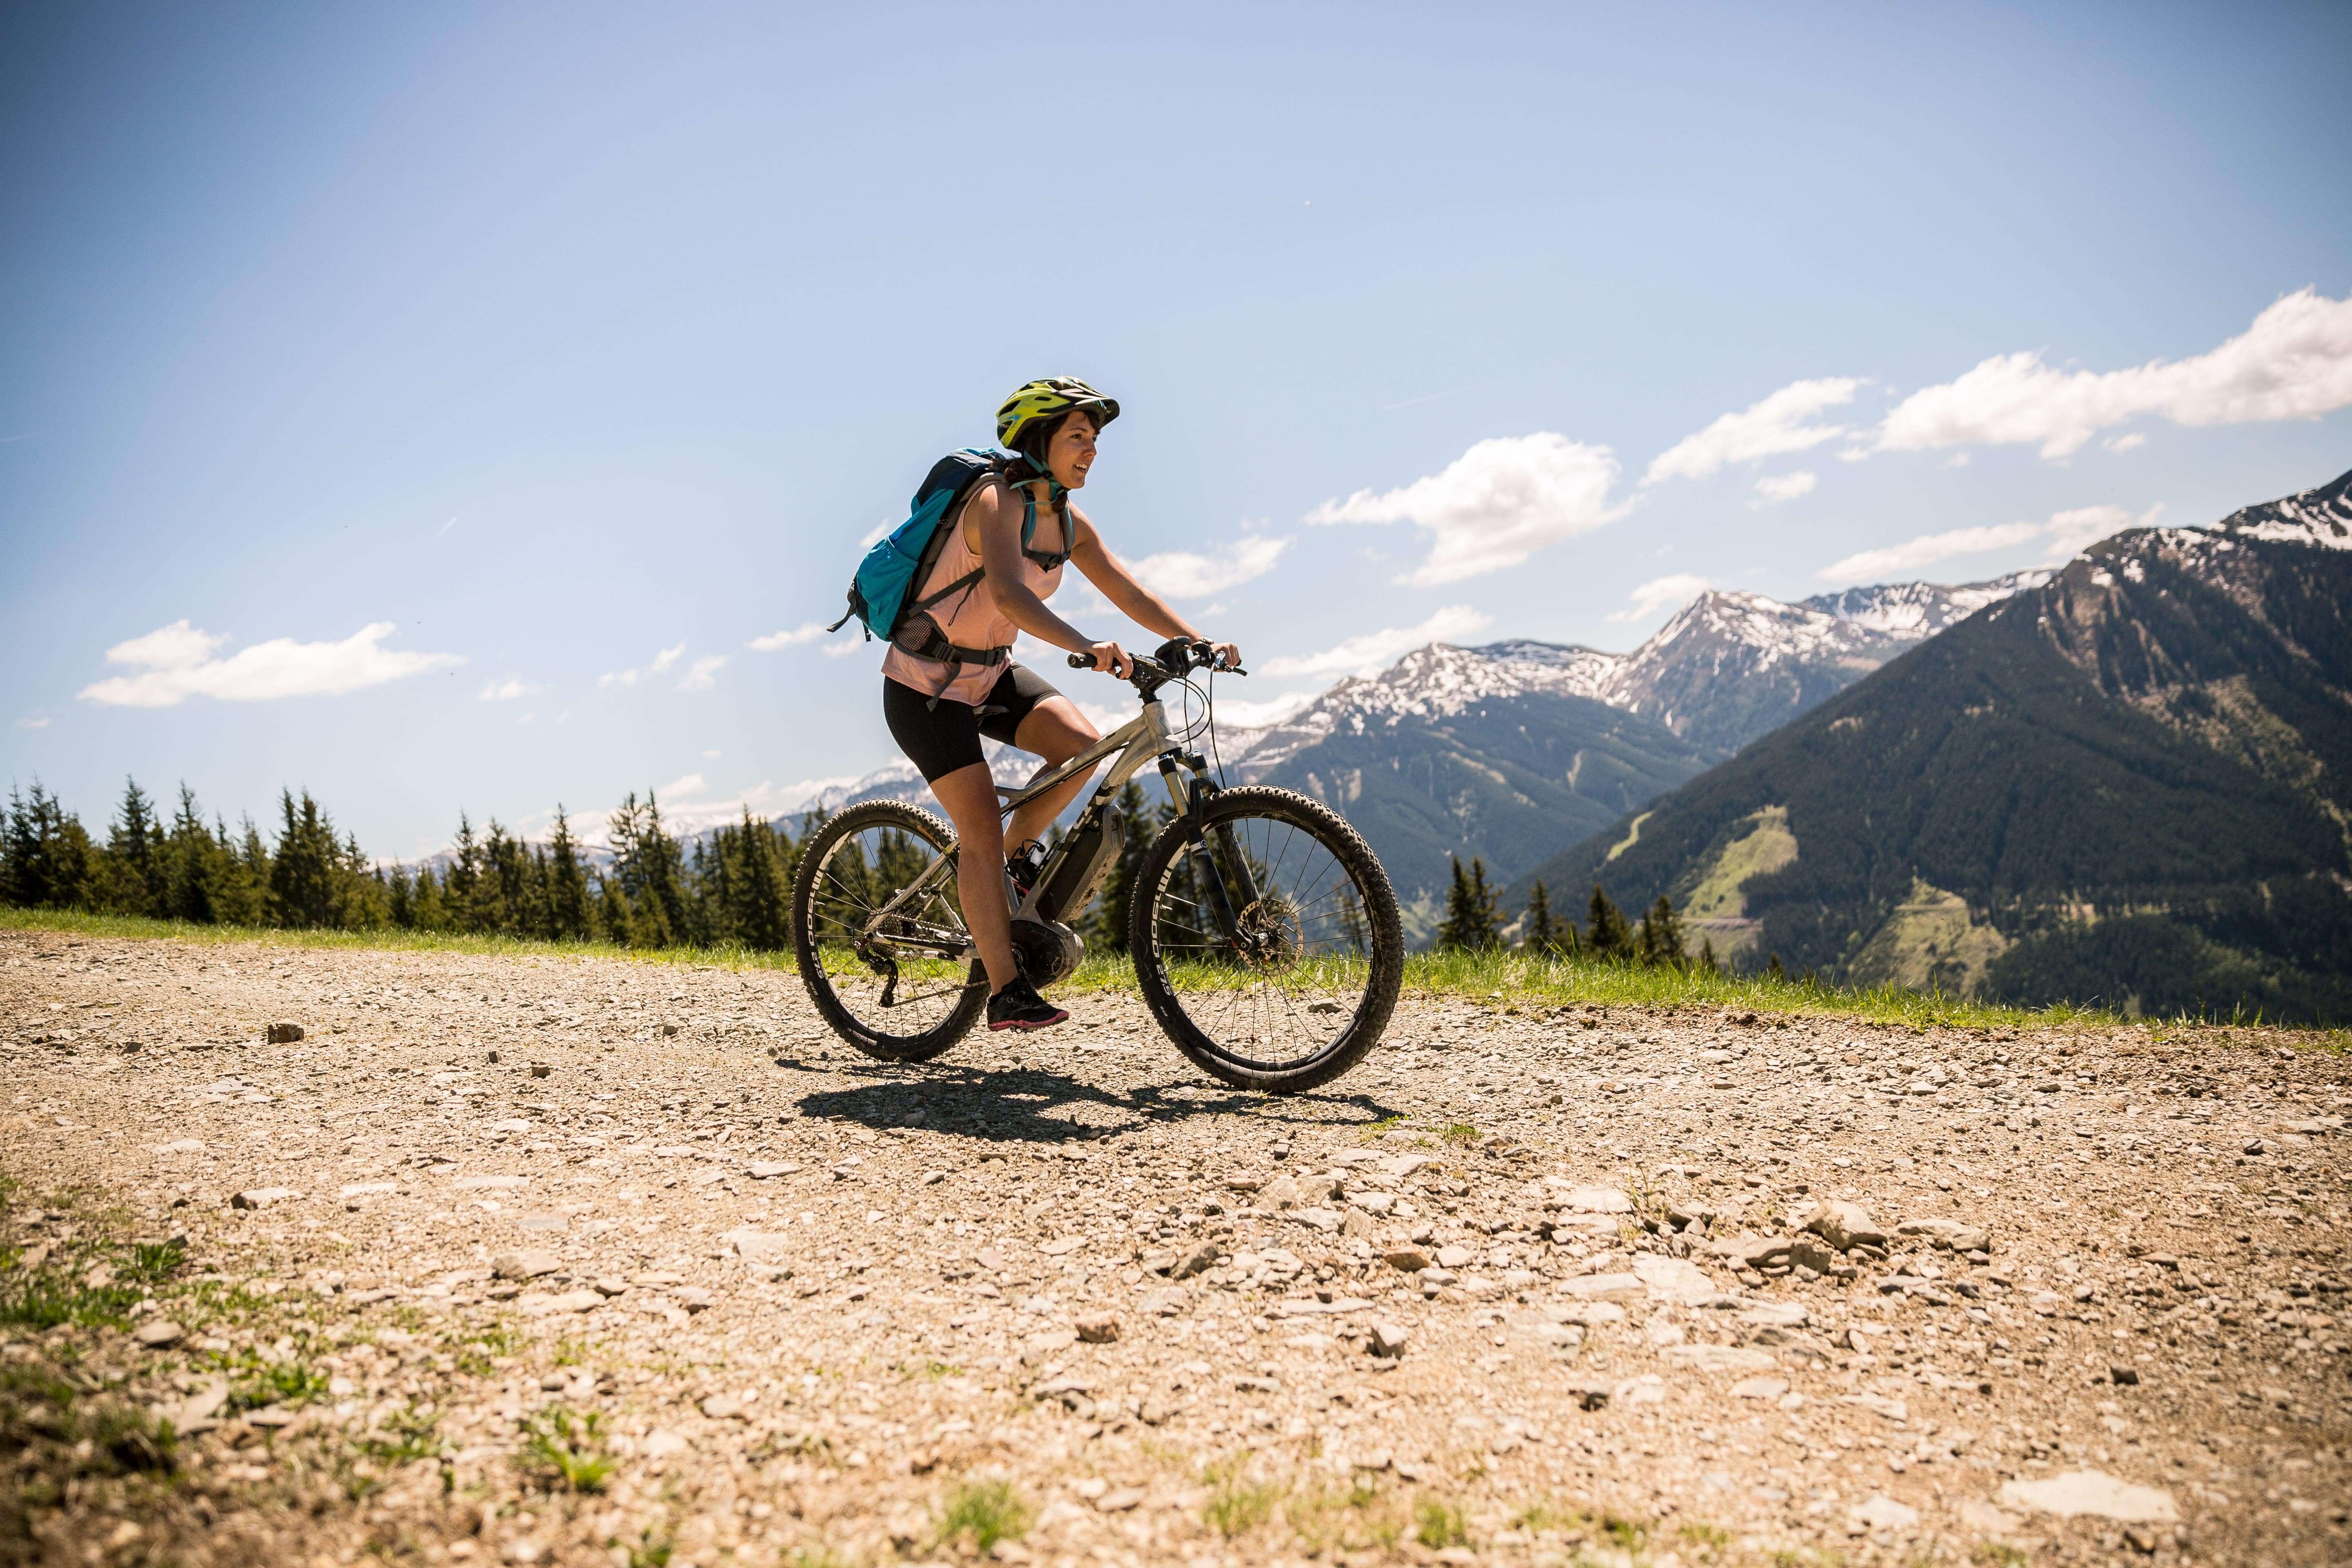
[[[2063,371],[2042,353],[1994,355],[1912,393],[1879,425],[1882,451],[2039,442],[2063,458],[2143,414],[2176,425],[2317,418],[2352,404],[2352,296],[2300,289],[2220,348],[2117,371]]]

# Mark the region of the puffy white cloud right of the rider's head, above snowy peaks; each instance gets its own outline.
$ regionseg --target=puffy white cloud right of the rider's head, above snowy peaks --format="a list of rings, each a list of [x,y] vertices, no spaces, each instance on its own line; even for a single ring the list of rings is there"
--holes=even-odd
[[[1435,473],[1390,491],[1359,489],[1308,512],[1312,524],[1414,522],[1432,534],[1430,557],[1406,583],[1458,583],[1517,567],[1536,550],[1590,534],[1625,515],[1609,491],[1618,461],[1606,447],[1564,435],[1501,435]]]

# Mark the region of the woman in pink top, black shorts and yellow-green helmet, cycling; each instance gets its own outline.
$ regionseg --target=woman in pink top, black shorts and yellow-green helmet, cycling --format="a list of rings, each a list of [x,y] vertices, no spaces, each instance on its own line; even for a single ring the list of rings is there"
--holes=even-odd
[[[1131,670],[1117,642],[1096,642],[1047,609],[1061,588],[1061,569],[1077,562],[1087,581],[1115,607],[1160,637],[1200,632],[1103,548],[1094,522],[1070,503],[1094,468],[1094,437],[1120,416],[1120,404],[1084,381],[1047,376],[1030,381],[997,409],[997,444],[1016,454],[1000,473],[981,480],[943,527],[950,529],[929,578],[910,599],[924,604],[908,616],[882,656],[882,717],[898,750],[908,755],[931,795],[955,820],[964,865],[1000,860],[1028,893],[1042,858],[1042,835],[1087,778],[1025,802],[1011,823],[997,818],[997,788],[981,755],[981,736],[1044,757],[1054,769],[1101,738],[1077,703],[1025,665],[1011,663],[1018,632],[1070,654],[1087,654],[1094,668],[1124,679]],[[969,581],[964,581],[969,578]],[[1221,665],[1237,665],[1242,651],[1216,644]],[[1011,853],[1007,856],[1007,844]],[[988,1027],[1044,1030],[1068,1013],[1028,983],[1014,959],[1011,910],[990,877],[957,882],[964,926],[988,971]]]

